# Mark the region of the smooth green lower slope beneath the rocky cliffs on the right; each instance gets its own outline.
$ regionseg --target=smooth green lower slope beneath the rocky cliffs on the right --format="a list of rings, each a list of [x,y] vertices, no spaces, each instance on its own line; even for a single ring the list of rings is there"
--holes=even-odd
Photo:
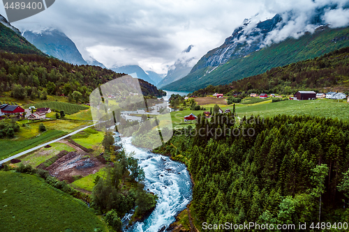
[[[207,73],[209,68],[191,72],[163,89],[170,91],[195,91],[206,86],[228,84],[234,80],[250,77],[271,68],[288,65],[297,61],[313,59],[316,56],[349,46],[349,28],[318,29],[315,33],[306,33],[299,39],[288,38],[283,42],[265,47],[243,58],[233,59]],[[206,56],[209,56],[207,54]],[[207,57],[203,56],[195,66],[200,67]],[[195,70],[195,66],[193,70]]]

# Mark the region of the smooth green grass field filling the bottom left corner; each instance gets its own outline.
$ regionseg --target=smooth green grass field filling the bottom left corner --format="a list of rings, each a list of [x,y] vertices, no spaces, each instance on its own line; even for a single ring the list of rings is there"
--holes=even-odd
[[[0,171],[1,231],[107,231],[87,205],[36,176]]]

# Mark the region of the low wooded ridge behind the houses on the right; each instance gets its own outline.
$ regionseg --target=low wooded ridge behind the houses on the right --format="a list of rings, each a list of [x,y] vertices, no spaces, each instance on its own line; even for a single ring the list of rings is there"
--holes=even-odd
[[[290,95],[298,90],[323,92],[324,87],[345,88],[348,95],[349,47],[329,52],[315,59],[276,67],[260,75],[239,79],[230,84],[207,86],[193,95],[213,93],[278,93]]]

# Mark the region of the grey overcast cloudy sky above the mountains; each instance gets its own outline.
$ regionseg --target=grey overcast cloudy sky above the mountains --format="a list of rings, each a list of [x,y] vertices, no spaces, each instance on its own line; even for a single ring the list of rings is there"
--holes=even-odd
[[[144,70],[166,73],[186,47],[195,46],[191,53],[198,61],[220,46],[245,18],[258,14],[258,20],[265,20],[283,10],[313,4],[311,0],[57,0],[13,26],[21,31],[60,29],[84,59],[92,56],[107,68],[138,64]],[[3,7],[0,13],[6,17]]]

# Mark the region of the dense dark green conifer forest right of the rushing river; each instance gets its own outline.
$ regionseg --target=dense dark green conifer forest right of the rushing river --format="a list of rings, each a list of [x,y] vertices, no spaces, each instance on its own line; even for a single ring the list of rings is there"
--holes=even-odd
[[[200,137],[192,131],[191,137],[188,130],[177,130],[156,150],[189,160],[195,181],[193,208],[200,222],[317,223],[318,186],[312,178],[320,164],[328,168],[321,222],[348,222],[349,210],[343,209],[342,201],[348,202],[348,198],[337,186],[348,180],[343,173],[349,168],[349,124],[332,118],[286,115],[251,124],[251,118],[231,123],[234,116],[229,114],[228,120],[207,123],[198,116],[201,123],[195,130],[201,129],[202,134],[224,127],[245,128],[245,134],[247,128],[253,128],[255,134]]]

